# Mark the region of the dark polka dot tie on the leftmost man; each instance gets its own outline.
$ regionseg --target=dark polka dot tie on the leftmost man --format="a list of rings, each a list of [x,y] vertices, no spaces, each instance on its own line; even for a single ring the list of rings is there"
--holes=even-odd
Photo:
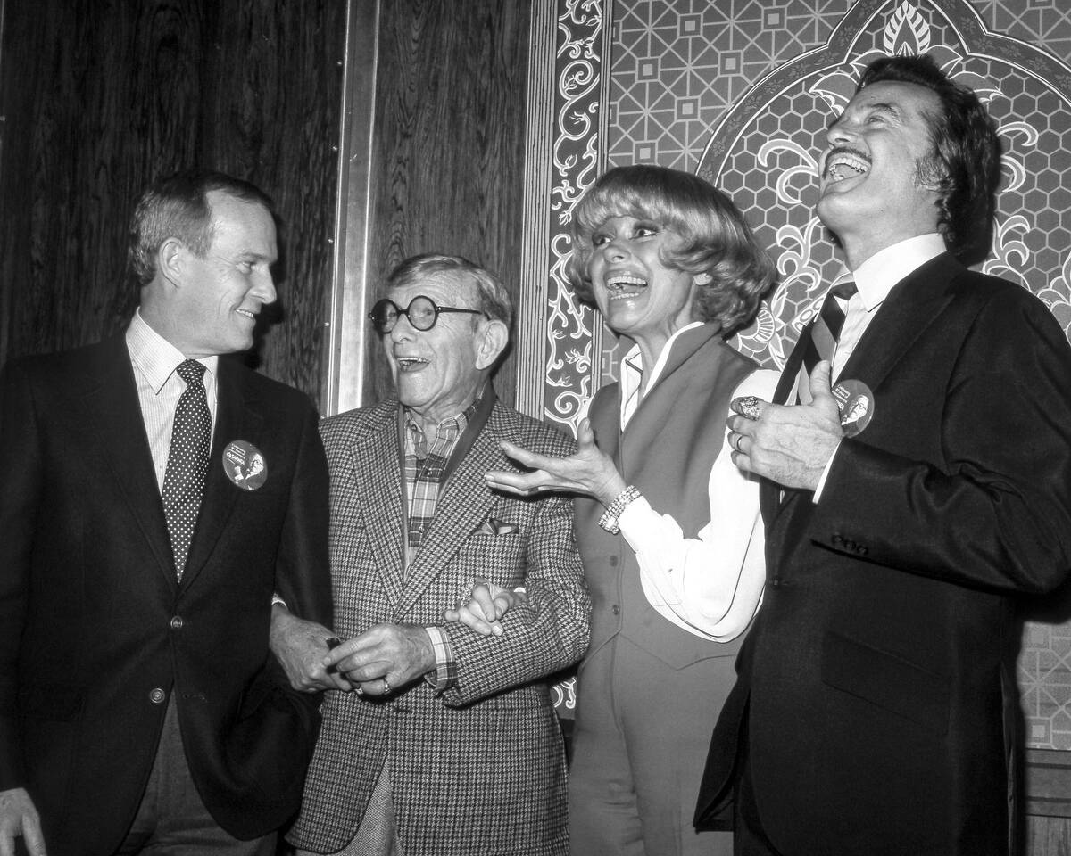
[[[162,499],[167,533],[171,538],[171,554],[175,556],[175,572],[181,580],[205,492],[212,415],[201,380],[205,366],[196,360],[186,360],[175,371],[186,382],[186,388],[175,409]]]

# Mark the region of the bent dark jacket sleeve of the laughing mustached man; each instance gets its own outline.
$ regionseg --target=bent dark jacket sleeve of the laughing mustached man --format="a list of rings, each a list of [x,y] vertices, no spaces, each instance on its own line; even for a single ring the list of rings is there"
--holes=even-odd
[[[809,534],[946,582],[1051,591],[1071,569],[1071,348],[1009,289],[978,311],[949,377],[944,460],[843,441]]]

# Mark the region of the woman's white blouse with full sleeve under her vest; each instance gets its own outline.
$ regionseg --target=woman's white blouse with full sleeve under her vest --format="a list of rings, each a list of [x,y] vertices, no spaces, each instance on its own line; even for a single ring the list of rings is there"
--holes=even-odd
[[[669,338],[648,373],[645,389],[651,389],[662,374],[677,336],[697,325],[689,324]],[[640,402],[644,367],[638,347],[621,361],[620,374],[623,429]],[[769,401],[776,384],[778,372],[758,370],[743,380],[731,398],[755,395]],[[726,410],[726,419],[729,415],[731,411]],[[636,553],[650,605],[678,627],[716,642],[728,642],[748,629],[766,581],[758,482],[733,464],[730,453],[724,426],[722,449],[707,483],[711,519],[695,538],[685,538],[677,521],[651,508],[644,496],[629,503],[618,519],[621,534]]]

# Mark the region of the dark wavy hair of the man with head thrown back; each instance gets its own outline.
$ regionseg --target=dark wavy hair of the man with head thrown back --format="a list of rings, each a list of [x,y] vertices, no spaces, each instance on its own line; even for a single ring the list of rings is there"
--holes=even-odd
[[[915,83],[939,98],[940,111],[926,113],[933,153],[922,177],[936,181],[937,226],[949,251],[965,264],[982,261],[993,244],[1000,184],[996,123],[975,91],[950,79],[929,56],[877,59],[856,91],[881,81]]]

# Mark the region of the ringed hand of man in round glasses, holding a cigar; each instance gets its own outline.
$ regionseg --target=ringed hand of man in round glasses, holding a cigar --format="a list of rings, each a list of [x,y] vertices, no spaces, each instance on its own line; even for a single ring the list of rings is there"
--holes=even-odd
[[[322,659],[337,666],[367,696],[387,696],[435,669],[435,648],[423,627],[377,624],[347,639]]]

